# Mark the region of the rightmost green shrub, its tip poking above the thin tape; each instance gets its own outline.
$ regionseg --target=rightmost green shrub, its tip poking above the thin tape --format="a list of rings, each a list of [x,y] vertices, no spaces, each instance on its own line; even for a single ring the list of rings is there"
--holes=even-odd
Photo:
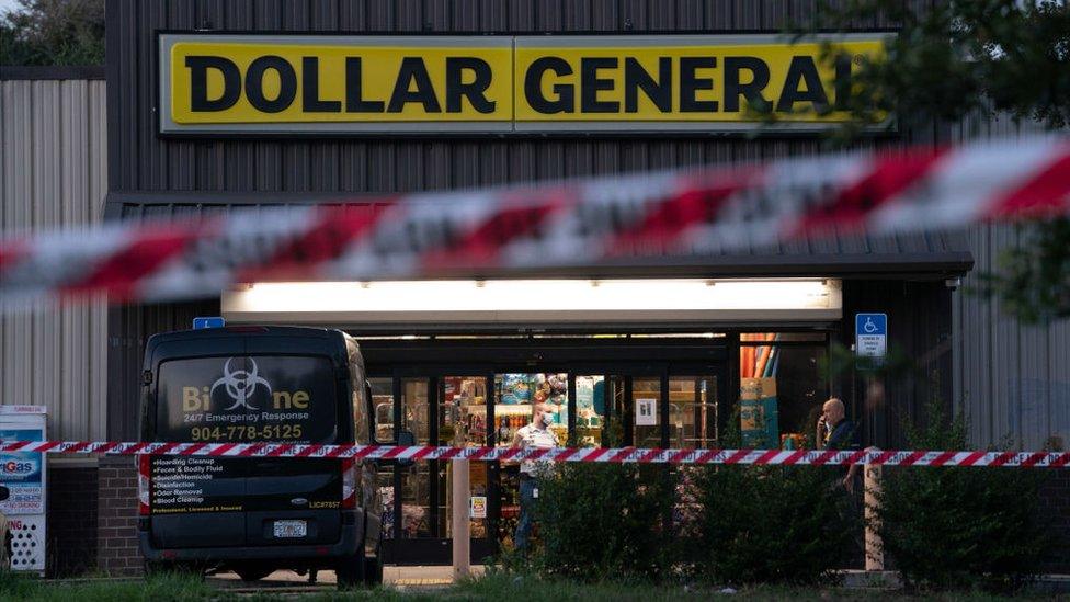
[[[967,450],[966,421],[938,400],[908,425],[912,450]],[[886,554],[913,588],[1013,591],[1039,569],[1049,537],[1038,521],[1041,472],[1011,468],[885,470],[879,527]]]

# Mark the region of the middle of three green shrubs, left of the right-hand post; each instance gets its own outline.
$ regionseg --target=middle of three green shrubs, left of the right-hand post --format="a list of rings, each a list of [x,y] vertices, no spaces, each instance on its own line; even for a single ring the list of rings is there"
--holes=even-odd
[[[686,554],[716,583],[834,582],[861,555],[861,511],[838,487],[845,468],[714,466],[695,476],[699,536]]]

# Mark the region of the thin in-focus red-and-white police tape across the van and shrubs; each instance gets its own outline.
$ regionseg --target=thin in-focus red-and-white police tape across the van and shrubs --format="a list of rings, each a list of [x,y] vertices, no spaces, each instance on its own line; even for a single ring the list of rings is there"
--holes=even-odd
[[[5,441],[0,453],[296,457],[356,459],[542,461],[615,464],[754,464],[787,466],[992,466],[1065,468],[1070,452],[902,452],[804,450],[672,450],[640,447],[448,447],[432,445],[318,445],[299,443],[138,443]]]

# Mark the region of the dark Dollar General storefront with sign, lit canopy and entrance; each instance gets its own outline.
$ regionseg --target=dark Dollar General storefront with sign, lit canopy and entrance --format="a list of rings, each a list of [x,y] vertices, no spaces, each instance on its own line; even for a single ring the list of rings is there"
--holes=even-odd
[[[834,109],[850,66],[776,37],[790,2],[566,4],[110,0],[105,218],[369,205],[821,148],[827,124],[790,113]],[[873,52],[888,35],[877,25],[840,42]],[[740,106],[754,93],[788,116],[758,137]],[[938,136],[902,123],[869,143]],[[971,264],[955,237],[861,236],[537,280],[247,283],[115,307],[109,436],[136,436],[146,339],[223,315],[357,337],[383,440],[405,428],[421,443],[508,444],[545,399],[576,444],[712,447],[738,430],[744,444],[798,445],[835,395],[868,443],[891,446],[902,418],[949,398],[952,291]],[[889,348],[927,376],[877,396],[864,374],[830,374],[857,313],[886,314]],[[515,468],[471,470],[479,559],[510,537]],[[390,560],[448,559],[446,473],[383,467]]]

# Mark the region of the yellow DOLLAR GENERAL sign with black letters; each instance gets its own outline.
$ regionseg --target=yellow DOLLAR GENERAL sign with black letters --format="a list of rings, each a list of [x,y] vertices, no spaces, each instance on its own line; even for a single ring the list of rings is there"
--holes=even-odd
[[[851,69],[881,35],[160,35],[168,134],[724,132],[846,118]],[[820,113],[820,114],[819,114]]]

